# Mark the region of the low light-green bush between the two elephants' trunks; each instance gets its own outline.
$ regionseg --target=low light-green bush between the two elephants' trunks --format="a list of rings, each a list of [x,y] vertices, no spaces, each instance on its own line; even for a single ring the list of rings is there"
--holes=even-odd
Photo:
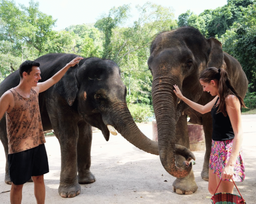
[[[150,105],[128,104],[128,109],[136,123],[147,122],[148,118],[154,115]]]

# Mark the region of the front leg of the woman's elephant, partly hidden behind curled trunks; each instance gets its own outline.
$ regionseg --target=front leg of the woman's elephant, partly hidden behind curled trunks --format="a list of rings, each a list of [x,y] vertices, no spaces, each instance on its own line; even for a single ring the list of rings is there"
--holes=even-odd
[[[189,137],[187,128],[187,115],[181,115],[176,124],[176,144],[182,145],[189,149]],[[182,163],[185,158],[180,155],[175,156],[176,165],[178,167],[184,166]],[[184,178],[176,178],[172,184],[173,191],[177,194],[192,194],[196,192],[198,186],[195,181],[193,169],[189,175]]]

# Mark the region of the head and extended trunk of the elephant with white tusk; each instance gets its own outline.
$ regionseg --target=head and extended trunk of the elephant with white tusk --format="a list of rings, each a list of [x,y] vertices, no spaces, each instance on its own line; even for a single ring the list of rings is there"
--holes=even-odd
[[[72,57],[74,55],[65,56],[65,60]],[[115,62],[96,57],[84,58],[78,67],[68,70],[55,89],[70,107],[76,107],[81,118],[102,131],[106,141],[110,132],[116,135],[116,129],[139,149],[158,155],[158,144],[139,130],[128,110],[126,87]],[[176,152],[184,154],[188,160],[194,158],[182,146],[176,146]]]

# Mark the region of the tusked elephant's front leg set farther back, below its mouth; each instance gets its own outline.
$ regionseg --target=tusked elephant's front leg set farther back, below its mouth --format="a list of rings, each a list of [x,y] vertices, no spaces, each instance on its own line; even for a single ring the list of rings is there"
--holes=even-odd
[[[78,123],[79,137],[77,142],[77,168],[78,183],[86,184],[96,181],[91,173],[91,146],[92,146],[92,127],[86,122]]]

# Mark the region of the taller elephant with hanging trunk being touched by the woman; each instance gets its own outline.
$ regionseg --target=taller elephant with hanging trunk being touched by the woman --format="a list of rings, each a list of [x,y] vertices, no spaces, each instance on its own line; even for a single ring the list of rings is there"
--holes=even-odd
[[[152,41],[147,63],[153,76],[152,101],[161,163],[169,174],[177,177],[173,182],[173,191],[192,194],[198,188],[193,170],[179,171],[184,158],[175,156],[173,148],[175,144],[189,148],[187,116],[190,117],[190,123],[203,125],[206,152],[201,177],[208,180],[212,117],[210,113],[202,115],[194,111],[177,98],[173,85],[181,87],[186,98],[205,105],[214,98],[203,91],[199,82],[201,72],[207,67],[225,69],[242,98],[245,97],[248,80],[240,63],[222,50],[222,44],[217,39],[206,39],[193,27],[181,27],[158,34]]]

